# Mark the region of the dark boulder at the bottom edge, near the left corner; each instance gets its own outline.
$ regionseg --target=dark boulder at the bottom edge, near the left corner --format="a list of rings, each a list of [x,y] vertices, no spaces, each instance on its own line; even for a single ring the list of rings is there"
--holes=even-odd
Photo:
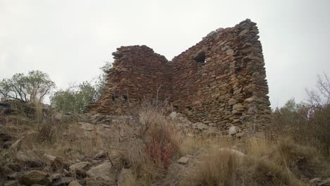
[[[20,183],[24,185],[50,185],[51,181],[49,174],[44,171],[30,171],[23,174]]]

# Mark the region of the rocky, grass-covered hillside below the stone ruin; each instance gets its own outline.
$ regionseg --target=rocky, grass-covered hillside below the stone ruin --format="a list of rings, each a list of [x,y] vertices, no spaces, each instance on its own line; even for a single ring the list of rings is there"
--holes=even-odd
[[[164,106],[121,116],[0,102],[1,185],[330,185],[290,136],[218,132]]]

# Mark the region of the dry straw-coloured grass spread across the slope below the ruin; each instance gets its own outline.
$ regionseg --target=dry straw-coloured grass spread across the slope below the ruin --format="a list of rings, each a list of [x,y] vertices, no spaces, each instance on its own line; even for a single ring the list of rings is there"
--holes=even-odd
[[[50,120],[42,125],[7,125],[15,126],[16,129],[8,130],[12,134],[24,136],[20,149],[51,154],[70,163],[77,159],[91,161],[99,150],[107,151],[106,159],[113,161],[116,173],[122,168],[133,171],[128,185],[302,185],[300,178],[329,173],[326,170],[330,169],[322,166],[326,161],[316,149],[290,138],[279,136],[271,141],[264,136],[242,140],[201,137],[194,132],[178,131],[177,121],[167,115],[161,109],[142,108],[130,120],[109,123],[108,130],[101,125]],[[182,156],[189,157],[187,165],[176,163]],[[3,164],[0,159],[0,174],[4,173]],[[50,171],[51,165],[44,169]],[[63,167],[54,171],[61,172]]]

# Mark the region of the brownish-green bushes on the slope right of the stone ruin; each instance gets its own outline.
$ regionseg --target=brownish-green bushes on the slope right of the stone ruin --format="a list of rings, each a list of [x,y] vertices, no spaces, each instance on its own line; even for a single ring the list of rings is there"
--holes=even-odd
[[[300,144],[317,147],[330,156],[330,81],[318,75],[317,89],[307,89],[307,102],[300,104],[290,99],[276,109],[269,129],[274,134],[293,137]]]

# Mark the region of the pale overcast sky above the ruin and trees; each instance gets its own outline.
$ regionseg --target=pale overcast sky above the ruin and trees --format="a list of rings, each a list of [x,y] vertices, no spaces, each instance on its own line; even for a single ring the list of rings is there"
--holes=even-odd
[[[330,75],[330,1],[0,0],[0,80],[42,70],[58,88],[92,80],[119,46],[169,60],[218,27],[259,27],[272,107]]]

